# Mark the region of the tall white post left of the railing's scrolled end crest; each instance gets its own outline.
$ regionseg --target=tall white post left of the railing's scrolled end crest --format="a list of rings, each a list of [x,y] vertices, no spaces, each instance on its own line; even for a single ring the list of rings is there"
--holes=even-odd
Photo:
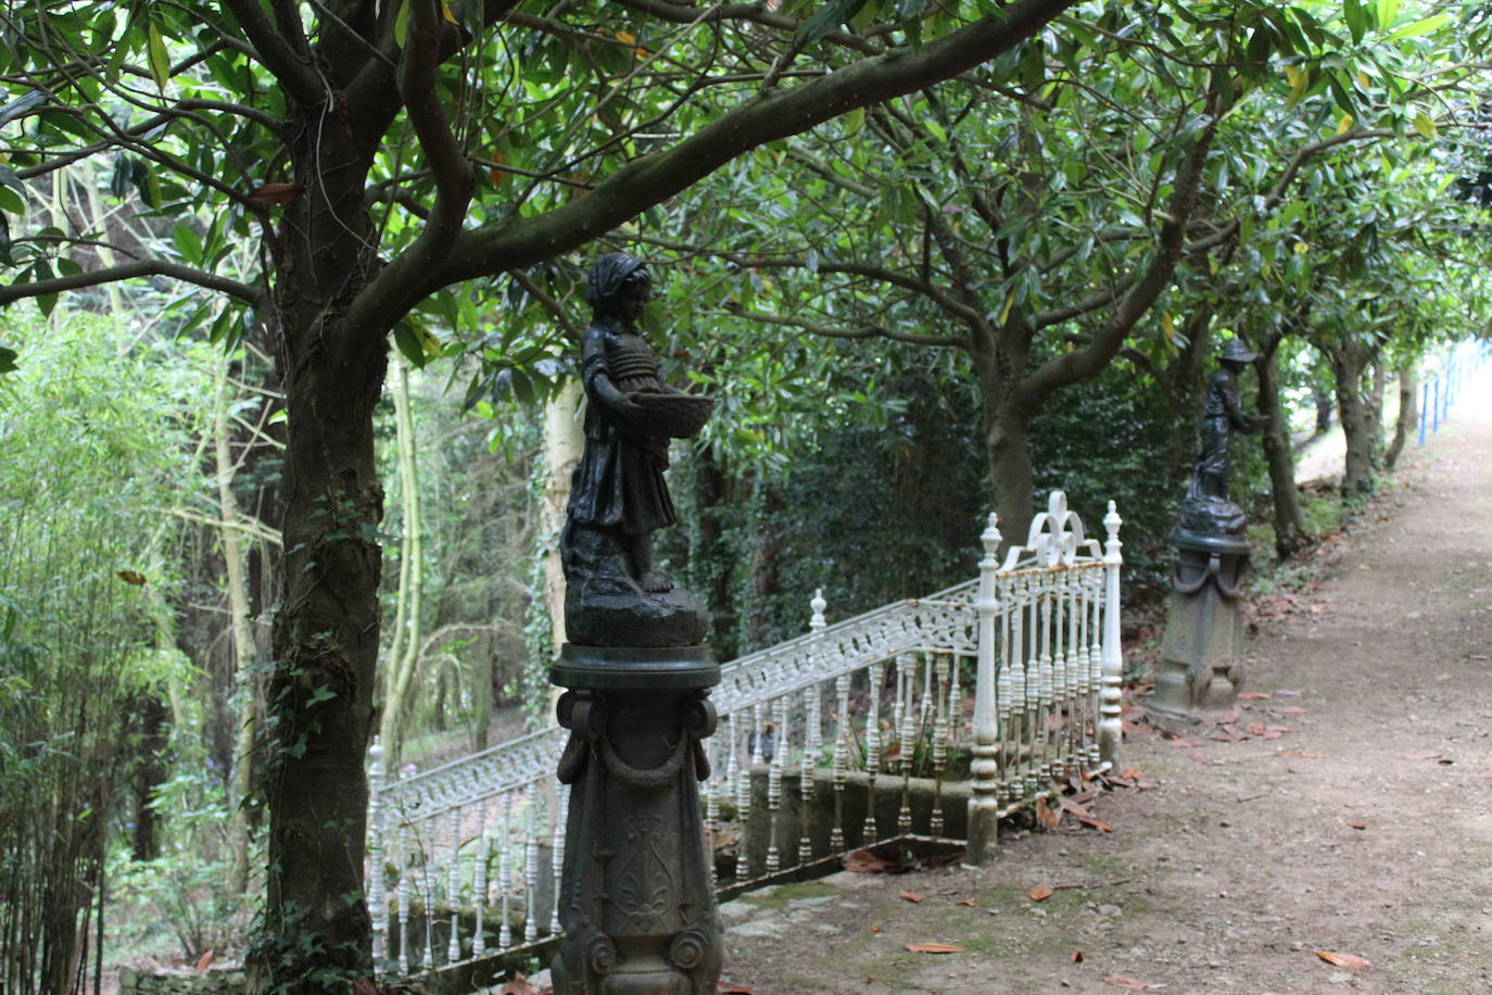
[[[968,862],[988,864],[995,858],[1000,831],[1000,724],[995,703],[995,619],[1000,601],[995,598],[995,574],[1000,571],[1000,518],[989,515],[979,540],[985,556],[979,561],[979,594],[974,610],[979,613],[977,670],[974,674],[974,759],[970,765],[973,797],[968,800]]]

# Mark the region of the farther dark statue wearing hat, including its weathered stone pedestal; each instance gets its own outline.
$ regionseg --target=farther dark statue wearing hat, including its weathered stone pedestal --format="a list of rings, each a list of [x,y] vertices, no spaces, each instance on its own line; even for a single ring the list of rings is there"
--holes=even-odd
[[[1246,415],[1238,403],[1238,374],[1255,358],[1241,340],[1229,340],[1207,385],[1192,480],[1182,522],[1171,533],[1176,571],[1155,692],[1146,700],[1146,709],[1162,719],[1195,719],[1201,709],[1229,704],[1243,685],[1238,592],[1249,573],[1247,515],[1228,497],[1228,443],[1234,433],[1268,421]]]

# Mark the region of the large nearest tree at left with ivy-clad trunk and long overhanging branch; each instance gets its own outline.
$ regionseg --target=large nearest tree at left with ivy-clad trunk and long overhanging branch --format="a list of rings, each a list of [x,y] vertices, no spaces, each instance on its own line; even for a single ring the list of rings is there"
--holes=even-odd
[[[546,260],[752,148],[965,73],[1068,6],[82,0],[0,13],[0,304],[175,282],[192,291],[186,327],[219,340],[263,328],[275,346],[289,424],[258,986],[346,991],[369,967],[372,427],[389,339],[416,360],[461,352],[494,280],[542,298]],[[48,182],[104,207],[30,210]],[[231,264],[245,242],[257,264]],[[501,346],[500,333],[483,345],[498,361]]]

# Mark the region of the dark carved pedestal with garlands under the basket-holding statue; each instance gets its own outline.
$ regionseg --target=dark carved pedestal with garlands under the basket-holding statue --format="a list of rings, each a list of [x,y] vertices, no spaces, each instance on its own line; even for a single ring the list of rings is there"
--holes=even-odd
[[[557,995],[715,992],[724,929],[710,886],[698,782],[715,731],[703,646],[567,643],[551,680],[570,785]]]

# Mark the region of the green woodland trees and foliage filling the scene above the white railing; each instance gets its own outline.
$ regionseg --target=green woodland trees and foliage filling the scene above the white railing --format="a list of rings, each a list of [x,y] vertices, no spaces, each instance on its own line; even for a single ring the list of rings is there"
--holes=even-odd
[[[10,4],[0,982],[367,973],[364,756],[548,721],[588,258],[661,280],[722,659],[1052,488],[1165,576],[1210,357],[1261,558],[1488,330],[1477,3]],[[1391,397],[1397,394],[1397,397]],[[1294,440],[1335,409],[1335,492]],[[1385,412],[1397,410],[1394,424]],[[382,625],[380,625],[382,621]],[[342,809],[307,820],[331,788]]]

